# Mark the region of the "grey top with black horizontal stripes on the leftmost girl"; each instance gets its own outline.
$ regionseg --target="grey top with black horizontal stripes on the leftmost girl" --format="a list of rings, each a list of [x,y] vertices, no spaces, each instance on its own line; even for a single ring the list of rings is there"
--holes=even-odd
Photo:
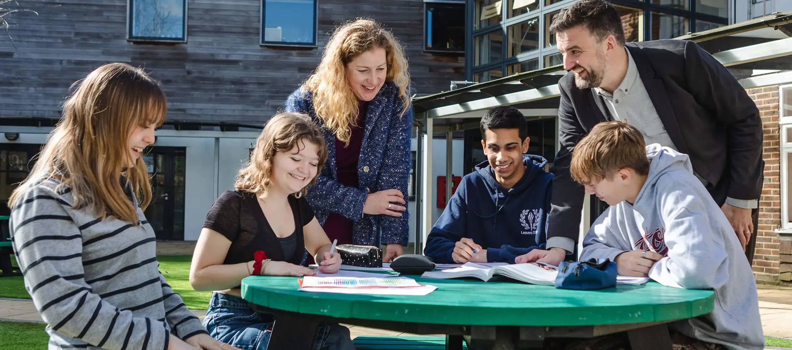
[[[167,349],[173,333],[207,333],[158,270],[156,238],[137,226],[72,209],[70,189],[48,179],[11,209],[13,250],[50,335],[49,349]]]

